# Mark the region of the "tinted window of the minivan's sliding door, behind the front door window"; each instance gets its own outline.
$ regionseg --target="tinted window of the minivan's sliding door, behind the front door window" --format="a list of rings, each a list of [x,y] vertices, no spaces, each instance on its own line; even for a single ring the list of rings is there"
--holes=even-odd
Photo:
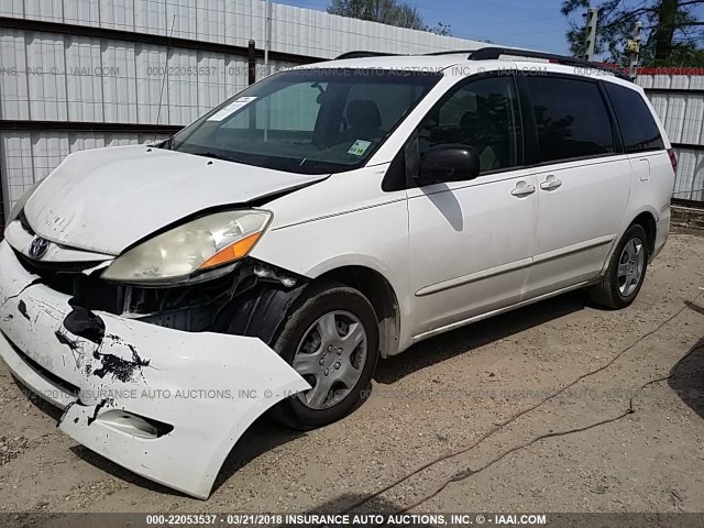
[[[595,82],[554,77],[526,79],[539,144],[539,163],[614,152],[614,133]]]

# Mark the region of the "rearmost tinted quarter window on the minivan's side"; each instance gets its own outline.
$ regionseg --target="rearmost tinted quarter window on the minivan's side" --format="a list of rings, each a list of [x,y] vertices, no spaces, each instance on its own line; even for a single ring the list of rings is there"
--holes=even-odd
[[[663,150],[658,123],[640,94],[613,82],[604,85],[616,112],[626,152]]]

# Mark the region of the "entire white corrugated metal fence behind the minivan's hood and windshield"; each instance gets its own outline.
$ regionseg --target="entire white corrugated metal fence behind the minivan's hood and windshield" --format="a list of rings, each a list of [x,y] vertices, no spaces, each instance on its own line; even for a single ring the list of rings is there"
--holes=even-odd
[[[0,0],[0,16],[245,47],[265,45],[263,0]],[[272,52],[327,59],[351,50],[428,53],[483,43],[272,6]],[[242,90],[246,56],[70,32],[0,28],[0,120],[185,125]],[[257,61],[257,78],[294,62]],[[147,135],[0,130],[4,211],[69,152]],[[2,212],[0,211],[0,217]]]

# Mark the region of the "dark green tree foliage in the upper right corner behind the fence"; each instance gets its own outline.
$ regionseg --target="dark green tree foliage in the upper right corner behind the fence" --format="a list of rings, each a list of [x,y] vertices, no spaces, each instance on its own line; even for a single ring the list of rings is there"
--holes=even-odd
[[[628,63],[626,43],[635,23],[642,22],[641,64],[647,66],[702,66],[704,37],[695,8],[704,0],[602,0],[598,9],[596,53],[609,62]],[[571,52],[584,53],[585,21],[582,14],[590,0],[563,0],[561,12],[568,18]]]

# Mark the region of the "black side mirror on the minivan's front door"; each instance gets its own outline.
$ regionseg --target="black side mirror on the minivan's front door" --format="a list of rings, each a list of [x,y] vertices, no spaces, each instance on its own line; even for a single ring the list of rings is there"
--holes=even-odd
[[[420,179],[428,183],[466,182],[480,175],[480,156],[468,145],[438,145],[420,162]]]

